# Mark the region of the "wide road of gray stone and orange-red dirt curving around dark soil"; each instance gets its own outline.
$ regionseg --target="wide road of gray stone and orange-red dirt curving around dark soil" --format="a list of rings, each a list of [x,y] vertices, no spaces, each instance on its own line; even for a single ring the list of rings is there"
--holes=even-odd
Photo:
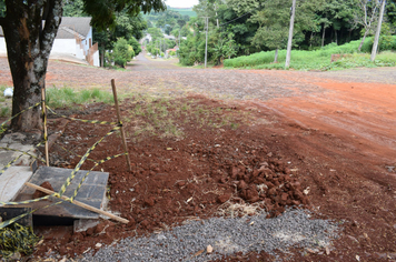
[[[298,167],[314,210],[344,221],[330,255],[297,252],[295,260],[396,260],[395,68],[202,70],[175,62],[140,54],[127,70],[115,71],[50,61],[47,87],[110,90],[116,79],[120,92],[200,93],[251,112],[248,132],[236,137],[261,134],[271,152]],[[11,83],[6,59],[0,59],[0,83]]]

